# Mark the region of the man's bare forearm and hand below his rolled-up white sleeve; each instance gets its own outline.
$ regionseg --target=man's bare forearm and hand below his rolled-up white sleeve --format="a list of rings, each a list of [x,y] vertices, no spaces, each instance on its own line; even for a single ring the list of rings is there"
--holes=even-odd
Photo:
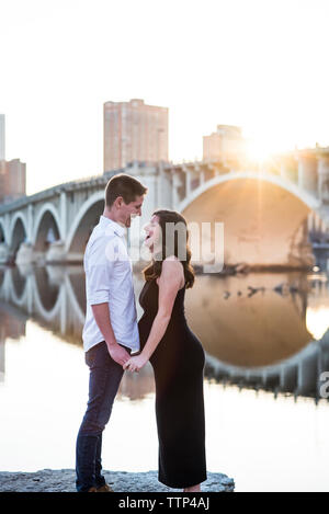
[[[120,344],[117,344],[110,319],[109,304],[97,304],[91,306],[95,322],[107,345],[109,353],[113,361],[123,366],[131,355]]]

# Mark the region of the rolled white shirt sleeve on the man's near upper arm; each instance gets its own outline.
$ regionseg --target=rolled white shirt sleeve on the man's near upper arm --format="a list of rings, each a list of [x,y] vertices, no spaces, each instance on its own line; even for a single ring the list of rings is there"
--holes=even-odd
[[[112,242],[111,242],[112,243]],[[110,243],[110,247],[112,244]],[[111,275],[114,260],[106,256],[106,249],[103,244],[92,249],[88,263],[87,282],[87,304],[105,304],[110,299]]]

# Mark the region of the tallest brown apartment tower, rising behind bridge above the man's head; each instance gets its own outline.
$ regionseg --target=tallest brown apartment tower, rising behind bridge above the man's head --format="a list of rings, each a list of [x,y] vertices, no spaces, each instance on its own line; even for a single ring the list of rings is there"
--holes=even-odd
[[[104,171],[168,161],[168,107],[144,100],[104,103]]]

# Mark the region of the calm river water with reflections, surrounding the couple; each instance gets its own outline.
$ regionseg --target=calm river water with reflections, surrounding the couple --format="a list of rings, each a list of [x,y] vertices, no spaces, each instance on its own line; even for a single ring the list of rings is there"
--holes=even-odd
[[[141,287],[136,273],[137,298]],[[75,467],[84,301],[82,267],[0,269],[1,470]],[[329,491],[327,272],[200,275],[185,308],[206,352],[208,470],[232,477],[236,491]],[[125,373],[104,468],[157,469],[154,403],[150,364]]]

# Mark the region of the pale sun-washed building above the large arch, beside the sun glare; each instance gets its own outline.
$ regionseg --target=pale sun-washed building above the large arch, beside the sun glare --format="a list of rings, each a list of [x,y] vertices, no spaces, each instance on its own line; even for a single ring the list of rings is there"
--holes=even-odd
[[[241,128],[234,125],[217,125],[217,130],[203,136],[203,160],[219,160],[236,163],[245,156],[245,139]]]

